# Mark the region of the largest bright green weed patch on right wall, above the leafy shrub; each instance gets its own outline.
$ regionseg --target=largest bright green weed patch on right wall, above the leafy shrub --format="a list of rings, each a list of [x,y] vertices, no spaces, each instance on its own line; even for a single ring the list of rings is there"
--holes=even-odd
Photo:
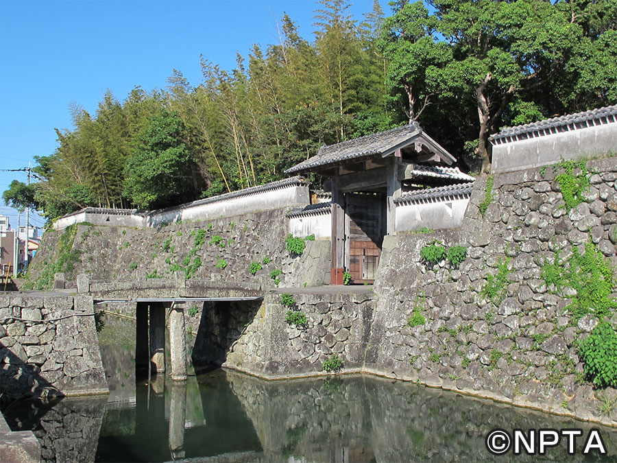
[[[559,259],[556,252],[553,263],[544,261],[540,276],[555,294],[563,294],[564,287],[574,289],[577,294],[566,307],[574,318],[592,313],[602,319],[617,307],[617,300],[611,296],[616,283],[612,265],[591,239],[585,243],[583,254],[572,248],[567,261]]]

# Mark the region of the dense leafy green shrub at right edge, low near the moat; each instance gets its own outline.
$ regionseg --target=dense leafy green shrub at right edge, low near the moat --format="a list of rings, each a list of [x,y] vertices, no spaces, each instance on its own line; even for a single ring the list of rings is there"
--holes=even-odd
[[[585,373],[598,388],[617,387],[617,333],[602,322],[579,344]]]

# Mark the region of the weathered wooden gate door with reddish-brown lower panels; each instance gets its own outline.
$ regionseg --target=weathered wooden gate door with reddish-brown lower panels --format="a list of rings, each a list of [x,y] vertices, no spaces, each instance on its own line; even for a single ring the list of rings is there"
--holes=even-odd
[[[353,283],[373,283],[383,243],[383,195],[347,193],[346,255]]]

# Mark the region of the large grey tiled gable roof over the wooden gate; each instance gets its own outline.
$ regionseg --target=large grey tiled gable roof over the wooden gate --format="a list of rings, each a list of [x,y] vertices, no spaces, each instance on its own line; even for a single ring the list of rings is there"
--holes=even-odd
[[[335,165],[341,161],[350,159],[367,158],[377,154],[384,154],[398,145],[405,143],[413,137],[422,136],[429,143],[437,145],[435,141],[430,139],[422,132],[420,124],[413,122],[408,126],[398,127],[385,132],[379,132],[372,135],[361,136],[359,139],[353,139],[337,143],[336,145],[324,145],[319,148],[315,156],[303,161],[302,163],[290,167],[285,171],[286,174],[293,174],[300,171],[310,171],[315,167],[326,167]],[[439,145],[437,145],[439,146]],[[441,154],[449,156],[454,161],[451,154],[441,148]]]

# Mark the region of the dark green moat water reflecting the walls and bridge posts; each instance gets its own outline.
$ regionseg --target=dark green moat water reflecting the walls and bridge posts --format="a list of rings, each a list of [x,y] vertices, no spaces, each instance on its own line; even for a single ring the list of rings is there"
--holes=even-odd
[[[5,411],[32,429],[44,461],[478,462],[616,461],[617,429],[369,376],[263,381],[206,369],[186,382],[136,379],[134,325],[108,318],[101,351],[109,396],[23,401]],[[580,428],[546,455],[495,456],[491,429]],[[596,428],[607,455],[582,455]]]

